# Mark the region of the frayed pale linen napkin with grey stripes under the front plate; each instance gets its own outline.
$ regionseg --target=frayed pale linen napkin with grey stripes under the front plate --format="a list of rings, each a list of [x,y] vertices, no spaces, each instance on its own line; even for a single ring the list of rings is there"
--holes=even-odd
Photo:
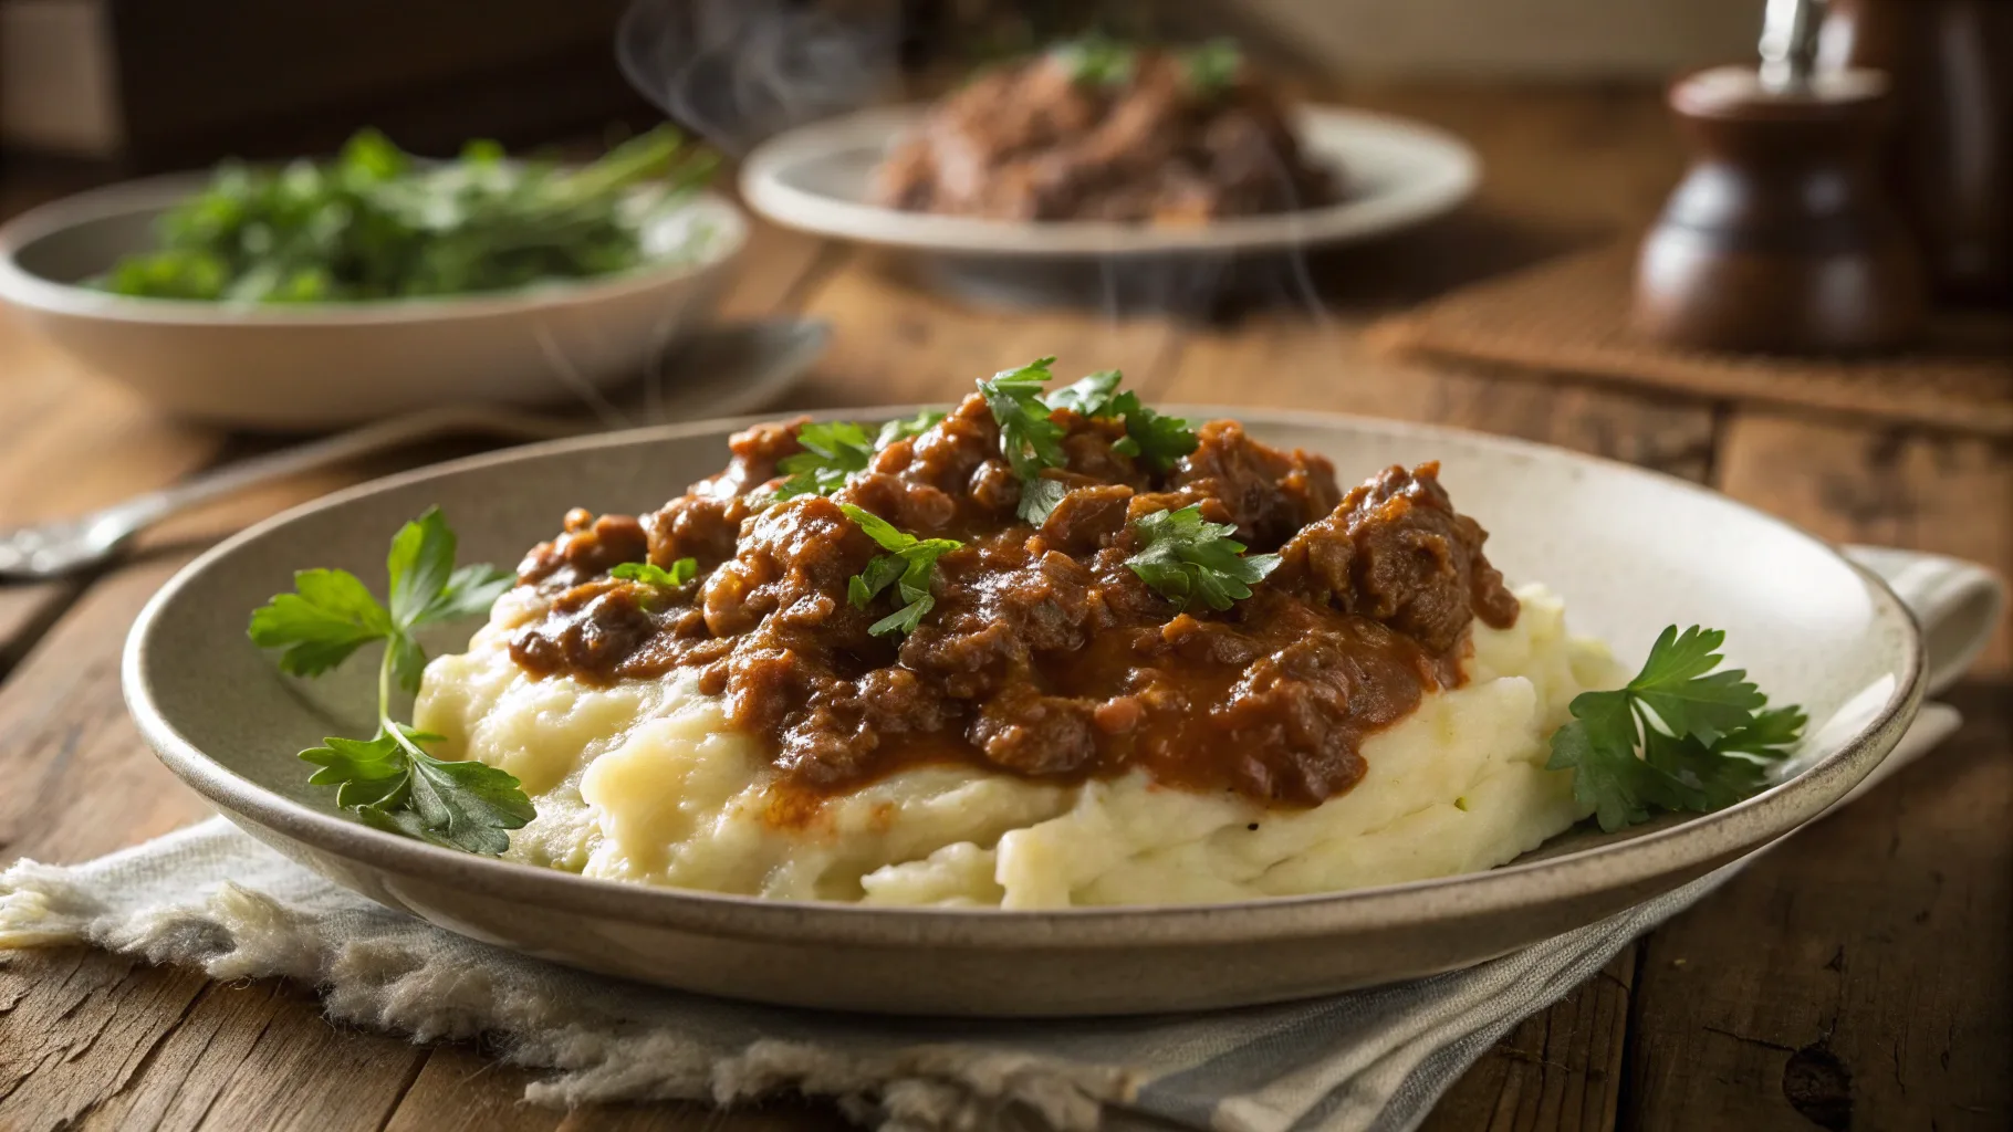
[[[1852,555],[1924,623],[1941,692],[1989,639],[2003,585],[1957,559]],[[1953,708],[1924,706],[1876,776],[1957,726]],[[215,979],[300,979],[342,1021],[415,1042],[489,1037],[507,1062],[552,1070],[527,1090],[544,1104],[803,1092],[888,1132],[1399,1132],[1520,1019],[1747,861],[1465,971],[1180,1017],[898,1019],[640,987],[386,911],[223,818],[85,865],[16,863],[0,873],[0,949],[85,941]]]

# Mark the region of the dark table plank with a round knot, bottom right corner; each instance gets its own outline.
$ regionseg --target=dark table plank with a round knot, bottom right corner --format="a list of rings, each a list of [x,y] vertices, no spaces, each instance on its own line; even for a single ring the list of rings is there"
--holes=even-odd
[[[1629,1128],[2013,1124],[2009,700],[1643,943]]]

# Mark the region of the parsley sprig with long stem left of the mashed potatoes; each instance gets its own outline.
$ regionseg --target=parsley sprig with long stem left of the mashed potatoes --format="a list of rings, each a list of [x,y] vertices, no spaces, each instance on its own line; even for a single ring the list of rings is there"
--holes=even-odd
[[[505,830],[533,816],[517,778],[475,760],[427,754],[425,744],[441,736],[393,720],[391,692],[393,684],[419,690],[427,653],[415,629],[487,611],[513,579],[489,565],[455,569],[455,533],[439,507],[399,529],[384,573],[389,605],[350,571],[304,569],[294,575],[294,593],[280,593],[252,613],[252,643],[282,649],[280,672],[290,676],[320,676],[362,645],[384,643],[376,734],[330,736],[300,752],[320,766],[308,782],[336,786],[336,804],[370,826],[467,853],[503,853]]]

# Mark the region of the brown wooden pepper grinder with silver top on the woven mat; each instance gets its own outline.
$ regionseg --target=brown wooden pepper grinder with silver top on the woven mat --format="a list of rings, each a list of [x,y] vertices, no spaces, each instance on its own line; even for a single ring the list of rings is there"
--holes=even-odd
[[[1761,68],[1679,80],[1697,157],[1637,259],[1637,332],[1711,350],[1898,346],[1924,318],[1922,265],[1888,201],[1878,70],[1812,72],[1814,0],[1769,0]]]

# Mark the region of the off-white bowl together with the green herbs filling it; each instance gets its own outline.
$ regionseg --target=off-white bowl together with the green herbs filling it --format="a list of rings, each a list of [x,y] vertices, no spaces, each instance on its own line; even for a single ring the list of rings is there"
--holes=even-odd
[[[332,161],[111,185],[0,225],[0,302],[167,412],[338,428],[674,372],[747,243],[670,129],[564,167],[364,133]]]

